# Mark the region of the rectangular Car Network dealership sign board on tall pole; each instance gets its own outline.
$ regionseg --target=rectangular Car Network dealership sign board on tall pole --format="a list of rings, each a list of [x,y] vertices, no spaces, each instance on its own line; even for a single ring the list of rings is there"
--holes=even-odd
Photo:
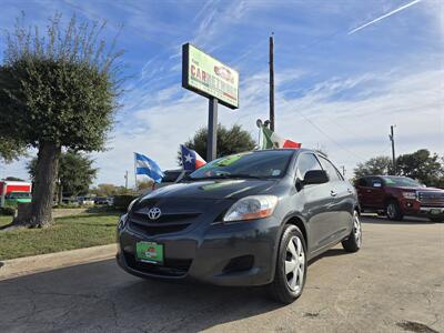
[[[182,87],[239,108],[239,73],[190,43],[182,46]]]

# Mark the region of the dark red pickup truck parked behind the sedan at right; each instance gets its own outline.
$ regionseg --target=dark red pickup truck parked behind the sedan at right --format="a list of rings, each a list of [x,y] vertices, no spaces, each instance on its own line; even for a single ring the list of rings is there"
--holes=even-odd
[[[444,221],[444,190],[394,175],[363,176],[355,181],[355,188],[362,211],[377,212],[395,221],[404,215]]]

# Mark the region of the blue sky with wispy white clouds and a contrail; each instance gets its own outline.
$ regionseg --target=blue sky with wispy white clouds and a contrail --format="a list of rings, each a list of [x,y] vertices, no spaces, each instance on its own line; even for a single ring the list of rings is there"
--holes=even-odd
[[[133,152],[162,169],[179,144],[208,123],[208,100],[181,87],[181,46],[191,42],[240,72],[240,108],[219,121],[258,138],[269,117],[269,37],[274,33],[275,131],[326,151],[353,176],[356,163],[428,149],[444,155],[444,1],[18,1],[2,0],[0,29],[21,11],[44,28],[63,20],[107,20],[124,49],[124,94],[104,152],[92,153],[95,183],[124,184]],[[122,27],[122,28],[121,28]],[[121,29],[121,30],[120,30]],[[0,40],[0,61],[4,37]],[[30,151],[30,157],[34,154]],[[0,179],[28,179],[22,158]],[[130,184],[134,176],[130,176]]]

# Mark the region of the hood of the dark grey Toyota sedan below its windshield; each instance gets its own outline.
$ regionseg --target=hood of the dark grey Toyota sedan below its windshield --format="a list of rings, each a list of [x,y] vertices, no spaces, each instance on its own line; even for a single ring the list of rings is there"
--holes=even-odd
[[[157,189],[141,198],[151,199],[239,199],[263,193],[276,183],[275,180],[205,180],[182,182]]]

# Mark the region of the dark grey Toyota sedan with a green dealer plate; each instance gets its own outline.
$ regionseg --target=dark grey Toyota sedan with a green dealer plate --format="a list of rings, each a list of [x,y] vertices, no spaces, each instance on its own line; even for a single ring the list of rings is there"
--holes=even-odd
[[[290,303],[309,260],[340,242],[361,248],[359,211],[354,188],[314,151],[233,154],[133,201],[117,260],[141,278],[266,285]]]

